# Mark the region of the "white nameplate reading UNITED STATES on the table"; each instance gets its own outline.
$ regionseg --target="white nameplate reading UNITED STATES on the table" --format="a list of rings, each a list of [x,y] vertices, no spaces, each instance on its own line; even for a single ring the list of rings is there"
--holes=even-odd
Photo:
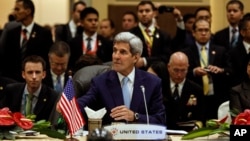
[[[148,124],[115,124],[104,126],[114,140],[164,140],[166,127]]]

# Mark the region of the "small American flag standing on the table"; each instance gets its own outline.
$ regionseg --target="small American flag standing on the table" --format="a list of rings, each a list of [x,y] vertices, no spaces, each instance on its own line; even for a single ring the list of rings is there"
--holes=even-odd
[[[85,120],[83,119],[75,98],[72,77],[69,77],[69,80],[67,81],[59,101],[59,107],[67,122],[69,133],[71,135],[84,126]]]

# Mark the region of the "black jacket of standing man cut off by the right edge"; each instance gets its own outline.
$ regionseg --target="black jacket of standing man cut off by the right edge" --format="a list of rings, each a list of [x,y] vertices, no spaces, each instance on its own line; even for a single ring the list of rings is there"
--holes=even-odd
[[[242,41],[238,42],[237,46],[232,48],[228,52],[228,54],[229,54],[228,61],[232,68],[230,86],[236,86],[240,84],[244,80],[244,78],[248,78],[246,70],[247,70],[249,55],[247,54]]]

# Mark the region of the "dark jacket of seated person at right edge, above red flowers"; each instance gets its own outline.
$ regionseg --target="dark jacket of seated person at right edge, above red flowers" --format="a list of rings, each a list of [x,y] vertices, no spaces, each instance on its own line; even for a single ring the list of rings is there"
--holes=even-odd
[[[237,110],[239,112],[244,112],[245,109],[250,109],[249,79],[231,89],[229,106],[230,110]]]

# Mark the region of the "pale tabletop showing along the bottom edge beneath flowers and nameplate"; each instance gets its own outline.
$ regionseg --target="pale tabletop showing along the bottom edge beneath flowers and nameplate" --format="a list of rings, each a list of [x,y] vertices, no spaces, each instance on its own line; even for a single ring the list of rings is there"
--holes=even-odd
[[[166,141],[181,141],[181,135],[169,135],[170,136],[170,140]],[[79,141],[86,141],[87,140],[87,136],[79,136],[76,137]],[[4,141],[8,141],[8,140],[4,140]],[[19,137],[17,139],[15,139],[15,141],[63,141],[62,139],[55,139],[55,138],[50,138],[46,135],[39,135],[36,137]],[[200,138],[196,138],[193,140],[185,140],[185,141],[229,141],[228,137],[219,137],[218,134],[214,134],[211,136],[206,136],[206,137],[200,137]]]

